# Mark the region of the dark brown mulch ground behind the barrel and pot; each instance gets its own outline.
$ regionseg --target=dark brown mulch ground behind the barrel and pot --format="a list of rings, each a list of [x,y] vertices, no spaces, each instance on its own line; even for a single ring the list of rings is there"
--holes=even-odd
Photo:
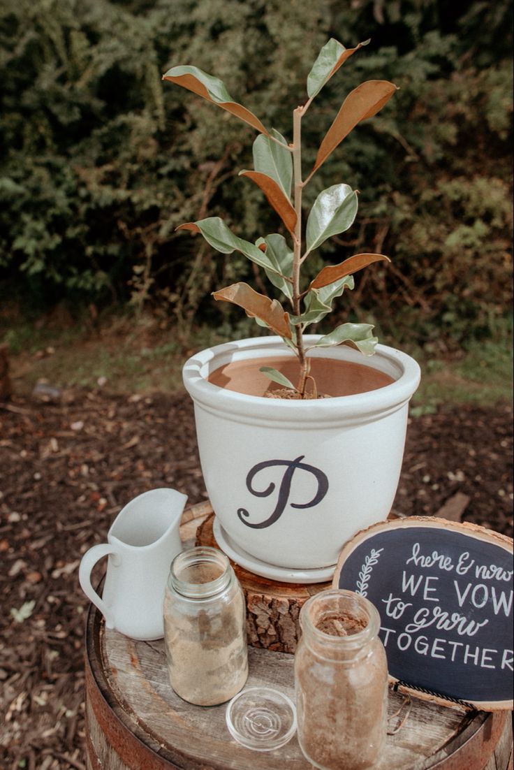
[[[84,551],[136,494],[205,499],[189,397],[0,403],[0,767],[85,768]],[[512,537],[512,410],[412,418],[394,511]]]

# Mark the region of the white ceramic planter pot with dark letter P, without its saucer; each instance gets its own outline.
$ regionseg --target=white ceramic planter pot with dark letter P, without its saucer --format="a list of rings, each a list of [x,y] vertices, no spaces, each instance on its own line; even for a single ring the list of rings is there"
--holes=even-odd
[[[384,345],[370,358],[348,346],[313,352],[372,367],[392,382],[365,393],[303,401],[248,396],[209,382],[229,362],[288,355],[272,336],[203,350],[183,370],[216,517],[247,554],[293,569],[335,564],[355,532],[389,514],[409,399],[420,376],[415,360]]]

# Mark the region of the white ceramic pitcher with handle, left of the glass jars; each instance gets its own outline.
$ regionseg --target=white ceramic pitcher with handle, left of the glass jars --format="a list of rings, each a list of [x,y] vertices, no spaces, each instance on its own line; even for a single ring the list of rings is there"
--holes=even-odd
[[[174,489],[143,492],[119,512],[107,543],[85,552],[78,580],[107,628],[147,641],[164,636],[162,601],[170,564],[182,551],[179,527],[186,500],[187,495]],[[91,571],[104,556],[108,564],[100,598]]]

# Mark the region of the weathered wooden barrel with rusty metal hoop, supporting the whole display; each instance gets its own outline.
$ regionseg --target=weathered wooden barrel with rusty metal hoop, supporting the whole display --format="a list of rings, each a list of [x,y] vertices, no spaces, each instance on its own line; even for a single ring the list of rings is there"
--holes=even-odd
[[[185,511],[185,544],[194,543],[209,504]],[[278,688],[294,700],[291,654],[249,648],[246,687]],[[390,692],[389,728],[404,697]],[[105,629],[92,607],[86,631],[86,748],[89,770],[312,770],[296,737],[274,752],[252,752],[225,726],[225,705],[182,701],[169,684],[164,642],[134,641]],[[496,747],[496,751],[495,751]],[[507,770],[512,730],[506,712],[487,714],[412,699],[405,724],[389,735],[374,770]],[[496,757],[495,757],[496,754]]]

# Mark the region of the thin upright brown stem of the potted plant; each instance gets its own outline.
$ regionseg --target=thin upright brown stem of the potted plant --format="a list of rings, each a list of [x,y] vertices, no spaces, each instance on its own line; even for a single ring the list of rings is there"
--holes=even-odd
[[[300,311],[300,264],[302,262],[302,107],[297,107],[292,113],[292,171],[295,187],[296,226],[292,260],[292,306],[295,316]],[[302,326],[295,326],[296,355],[300,363],[300,379],[298,390],[305,397],[305,383],[309,373],[309,362],[305,357],[303,346]]]

